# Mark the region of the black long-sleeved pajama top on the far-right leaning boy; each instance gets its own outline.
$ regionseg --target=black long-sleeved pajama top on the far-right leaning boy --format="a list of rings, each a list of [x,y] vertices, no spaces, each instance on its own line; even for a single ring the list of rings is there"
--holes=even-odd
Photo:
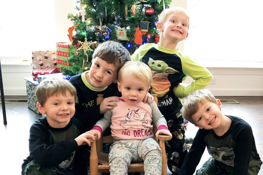
[[[195,172],[205,147],[215,160],[233,167],[233,174],[247,175],[249,167],[262,164],[250,125],[238,117],[228,117],[232,122],[222,136],[213,130],[198,130],[179,174],[192,175]]]

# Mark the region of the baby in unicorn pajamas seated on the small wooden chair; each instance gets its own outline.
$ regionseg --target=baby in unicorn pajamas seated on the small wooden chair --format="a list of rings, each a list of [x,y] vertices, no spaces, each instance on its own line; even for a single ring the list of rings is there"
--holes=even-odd
[[[143,103],[150,89],[152,74],[140,61],[128,61],[120,69],[118,89],[122,97],[118,105],[107,110],[91,132],[100,138],[110,126],[114,139],[110,147],[110,174],[127,174],[131,162],[144,160],[145,174],[161,174],[161,150],[153,139],[153,125],[159,134],[172,136],[165,118],[155,103]]]

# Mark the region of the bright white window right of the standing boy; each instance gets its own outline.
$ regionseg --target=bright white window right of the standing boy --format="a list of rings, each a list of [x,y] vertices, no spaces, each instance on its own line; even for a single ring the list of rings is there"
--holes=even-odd
[[[184,52],[199,61],[263,62],[263,10],[258,0],[187,0]]]

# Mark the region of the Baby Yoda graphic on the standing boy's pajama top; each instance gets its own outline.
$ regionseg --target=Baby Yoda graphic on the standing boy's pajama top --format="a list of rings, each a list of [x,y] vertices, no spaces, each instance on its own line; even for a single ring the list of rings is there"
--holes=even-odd
[[[168,80],[168,75],[178,73],[179,71],[169,67],[164,61],[153,60],[151,57],[149,57],[148,65],[153,74],[152,93],[157,94],[158,98],[163,97],[169,91],[171,86],[171,83]]]

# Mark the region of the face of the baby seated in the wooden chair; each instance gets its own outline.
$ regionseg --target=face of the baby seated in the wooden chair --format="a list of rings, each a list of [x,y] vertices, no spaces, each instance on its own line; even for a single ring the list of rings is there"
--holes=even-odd
[[[133,75],[125,75],[118,82],[118,89],[122,93],[124,101],[130,105],[134,105],[143,101],[150,86],[145,81]]]

